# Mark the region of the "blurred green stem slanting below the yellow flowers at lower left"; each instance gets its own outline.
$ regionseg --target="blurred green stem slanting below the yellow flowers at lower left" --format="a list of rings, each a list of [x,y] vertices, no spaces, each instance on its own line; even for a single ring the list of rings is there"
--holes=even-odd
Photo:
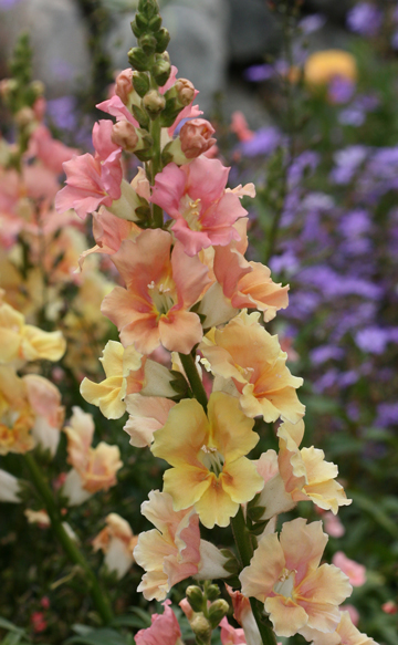
[[[96,576],[92,571],[88,562],[81,553],[81,551],[77,549],[75,542],[71,540],[64,527],[62,526],[59,509],[54,502],[51,489],[49,488],[45,479],[43,478],[33,455],[31,452],[27,452],[24,455],[24,459],[31,474],[33,483],[36,488],[36,491],[40,495],[42,501],[44,502],[45,509],[49,513],[52,530],[54,531],[56,538],[61,542],[61,545],[63,547],[70,560],[74,564],[77,564],[83,569],[86,576],[86,581],[88,583],[92,599],[103,622],[105,624],[111,623],[111,621],[113,620],[113,612],[109,605],[109,601],[104,590],[100,587]]]

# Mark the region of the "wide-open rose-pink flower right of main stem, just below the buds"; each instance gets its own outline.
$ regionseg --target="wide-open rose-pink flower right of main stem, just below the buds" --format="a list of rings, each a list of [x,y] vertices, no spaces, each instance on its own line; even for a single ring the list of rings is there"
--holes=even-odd
[[[226,190],[228,174],[221,162],[201,156],[180,168],[168,164],[156,176],[151,201],[176,220],[172,232],[188,256],[240,239],[233,225],[247,211]]]

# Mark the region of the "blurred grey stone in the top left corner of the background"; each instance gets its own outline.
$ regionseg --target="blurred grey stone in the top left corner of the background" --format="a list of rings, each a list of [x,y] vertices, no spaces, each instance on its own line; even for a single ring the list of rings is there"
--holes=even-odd
[[[73,0],[21,0],[0,11],[3,60],[22,31],[31,38],[33,77],[43,81],[49,97],[75,92],[90,76],[88,34]]]

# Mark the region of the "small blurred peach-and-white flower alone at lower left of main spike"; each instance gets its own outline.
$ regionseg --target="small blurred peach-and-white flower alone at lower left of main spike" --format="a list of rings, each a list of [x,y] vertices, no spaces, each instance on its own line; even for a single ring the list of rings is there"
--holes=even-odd
[[[134,535],[129,523],[117,513],[106,516],[105,522],[106,527],[93,540],[93,549],[105,553],[106,568],[115,571],[121,580],[134,562],[133,550],[138,535]]]

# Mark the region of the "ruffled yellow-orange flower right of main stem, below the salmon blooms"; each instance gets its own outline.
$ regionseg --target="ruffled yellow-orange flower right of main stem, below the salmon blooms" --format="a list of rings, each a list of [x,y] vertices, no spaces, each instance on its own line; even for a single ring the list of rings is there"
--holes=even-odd
[[[199,348],[213,374],[232,379],[247,416],[261,415],[268,423],[281,416],[295,424],[305,412],[295,392],[303,379],[292,376],[277,336],[271,336],[259,318],[243,310],[223,329],[210,330]]]

